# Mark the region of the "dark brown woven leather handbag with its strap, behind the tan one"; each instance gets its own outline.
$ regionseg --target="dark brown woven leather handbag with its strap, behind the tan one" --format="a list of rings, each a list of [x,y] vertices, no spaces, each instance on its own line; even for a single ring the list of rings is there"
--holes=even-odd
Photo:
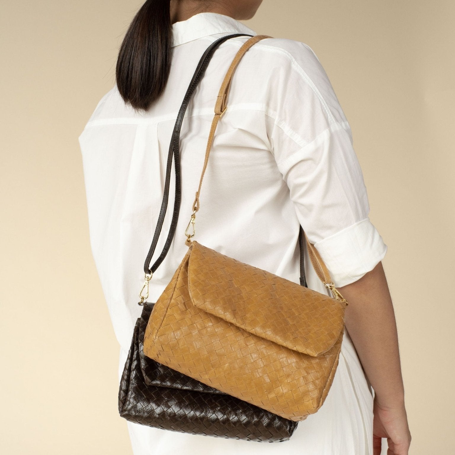
[[[208,66],[216,48],[225,40],[243,36],[233,34],[223,36],[210,45],[200,59],[192,77],[177,121],[172,133],[162,210],[152,241],[146,264],[160,235],[169,197],[172,156],[175,161],[176,194],[170,232],[163,252],[153,264],[154,272],[167,254],[175,233],[181,197],[179,135],[183,116],[197,84]],[[251,35],[245,35],[251,36]],[[303,231],[300,228],[300,283],[306,286],[303,267]],[[267,410],[225,394],[220,390],[202,384],[196,379],[170,369],[145,356],[143,353],[144,333],[152,313],[153,303],[144,303],[147,296],[142,295],[141,317],[137,319],[131,340],[131,348],[123,370],[118,394],[118,409],[121,417],[141,425],[163,430],[172,430],[195,435],[216,436],[230,439],[258,442],[281,442],[289,440],[297,427],[297,422],[284,419]]]

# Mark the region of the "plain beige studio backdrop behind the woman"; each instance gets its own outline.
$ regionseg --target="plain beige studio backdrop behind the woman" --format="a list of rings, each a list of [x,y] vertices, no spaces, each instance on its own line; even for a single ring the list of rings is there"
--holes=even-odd
[[[1,2],[5,454],[131,454],[77,138],[114,84],[141,4]],[[310,45],[352,126],[370,218],[389,247],[415,455],[455,453],[454,15],[449,0],[264,0],[246,22]]]

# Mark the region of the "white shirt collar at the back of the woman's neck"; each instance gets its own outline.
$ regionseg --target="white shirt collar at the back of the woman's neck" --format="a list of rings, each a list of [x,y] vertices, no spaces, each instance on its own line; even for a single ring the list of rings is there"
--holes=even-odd
[[[172,46],[178,46],[204,36],[229,32],[257,35],[254,30],[230,16],[218,13],[198,13],[187,20],[172,24]]]

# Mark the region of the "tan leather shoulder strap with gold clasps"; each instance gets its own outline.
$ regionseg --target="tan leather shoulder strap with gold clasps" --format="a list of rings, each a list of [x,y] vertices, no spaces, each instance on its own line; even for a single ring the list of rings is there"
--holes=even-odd
[[[215,115],[213,116],[212,120],[212,126],[210,128],[210,133],[208,136],[208,141],[207,141],[207,148],[205,152],[205,160],[204,160],[204,167],[202,168],[202,173],[201,173],[201,179],[199,181],[199,187],[196,192],[196,197],[193,202],[193,213],[191,216],[191,221],[188,223],[187,230],[185,231],[185,234],[187,235],[187,241],[186,244],[189,246],[191,244],[190,238],[194,235],[195,232],[195,227],[194,227],[194,220],[196,216],[196,212],[199,210],[199,194],[201,192],[201,186],[202,186],[202,179],[204,178],[204,173],[207,167],[207,162],[208,162],[208,156],[210,154],[210,149],[212,148],[212,142],[213,142],[213,137],[215,136],[215,129],[217,127],[219,119],[222,117],[224,112],[227,109],[227,93],[229,91],[229,86],[231,84],[232,76],[234,74],[235,69],[237,68],[238,62],[242,59],[242,57],[245,55],[245,53],[248,51],[248,49],[255,43],[257,43],[260,40],[263,40],[264,38],[272,38],[272,36],[268,35],[255,35],[249,40],[245,41],[245,43],[242,45],[242,47],[238,50],[237,54],[235,55],[231,65],[229,66],[226,76],[224,77],[220,91],[218,92],[217,96],[217,102],[215,104]],[[188,234],[188,229],[192,225],[193,233]],[[335,295],[335,298],[342,300],[346,302],[342,297],[341,294],[336,291],[334,288],[334,283],[332,281],[332,278],[330,277],[329,270],[327,269],[326,265],[324,264],[324,261],[322,260],[321,256],[319,255],[319,252],[314,246],[309,243],[308,238],[305,235],[305,240],[307,243],[307,248],[308,248],[308,255],[311,259],[311,263],[313,264],[313,268],[316,271],[319,279],[324,283],[324,286],[329,288]],[[339,298],[341,297],[341,298]]]

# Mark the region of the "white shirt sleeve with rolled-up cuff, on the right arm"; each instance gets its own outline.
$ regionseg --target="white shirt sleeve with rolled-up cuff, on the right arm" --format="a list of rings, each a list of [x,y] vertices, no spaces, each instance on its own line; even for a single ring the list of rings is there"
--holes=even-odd
[[[329,78],[308,46],[297,51],[274,81],[272,153],[308,240],[341,287],[372,270],[387,246],[369,219],[351,128]]]

